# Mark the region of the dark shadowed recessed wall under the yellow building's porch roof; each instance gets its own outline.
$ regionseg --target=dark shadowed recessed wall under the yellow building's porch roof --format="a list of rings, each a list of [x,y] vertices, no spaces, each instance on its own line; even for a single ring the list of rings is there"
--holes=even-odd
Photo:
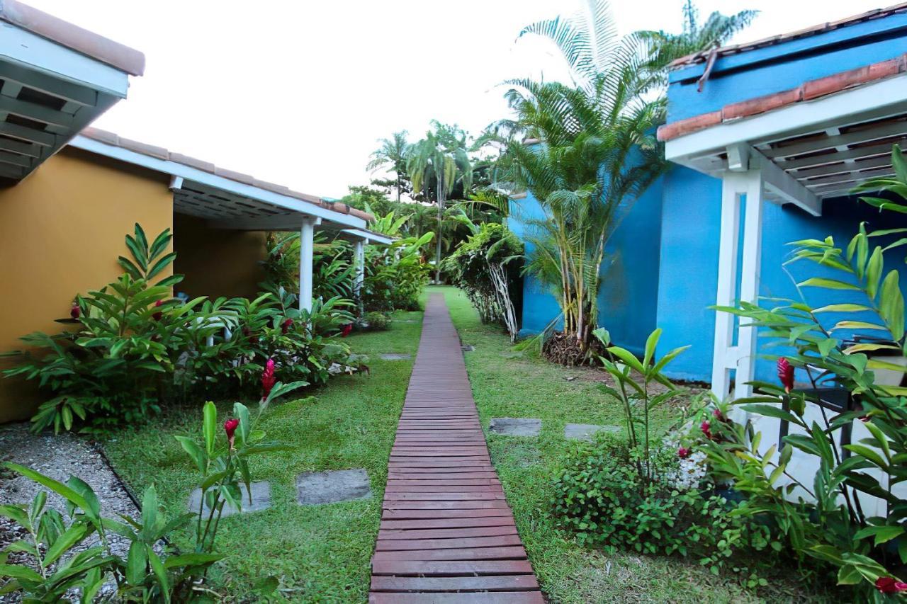
[[[173,270],[185,276],[174,288],[189,297],[255,297],[265,276],[265,233],[210,229],[204,219],[173,217]]]

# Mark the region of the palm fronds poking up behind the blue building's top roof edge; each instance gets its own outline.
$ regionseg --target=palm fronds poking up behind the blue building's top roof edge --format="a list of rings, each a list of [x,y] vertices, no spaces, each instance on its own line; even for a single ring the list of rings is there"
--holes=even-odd
[[[667,83],[665,69],[672,61],[688,54],[714,49],[753,23],[759,11],[745,10],[736,15],[722,15],[715,11],[708,15],[705,23],[698,23],[699,12],[693,0],[686,0],[683,7],[683,30],[680,34],[663,31],[638,32],[640,38],[650,47],[647,67],[653,73],[660,73],[659,83]]]

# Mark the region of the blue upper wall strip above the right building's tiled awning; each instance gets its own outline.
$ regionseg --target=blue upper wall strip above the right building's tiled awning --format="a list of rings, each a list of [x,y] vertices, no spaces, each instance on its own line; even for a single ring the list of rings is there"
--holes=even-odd
[[[826,75],[886,61],[904,52],[907,14],[848,25],[717,59],[702,93],[704,63],[670,74],[668,122],[714,112],[728,103],[780,93]]]

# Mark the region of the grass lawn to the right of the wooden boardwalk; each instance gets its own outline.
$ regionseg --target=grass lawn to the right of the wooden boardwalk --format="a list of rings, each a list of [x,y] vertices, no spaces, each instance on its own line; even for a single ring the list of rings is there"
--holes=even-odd
[[[761,601],[733,578],[716,577],[678,558],[631,553],[605,555],[580,547],[551,517],[551,484],[561,460],[576,446],[563,438],[567,423],[621,425],[618,402],[600,393],[589,369],[568,369],[515,353],[496,326],[483,326],[467,298],[444,293],[463,344],[473,396],[492,461],[501,477],[517,528],[541,587],[553,602],[751,602]],[[653,417],[656,430],[674,419],[670,408]],[[541,418],[538,438],[490,434],[493,417]],[[792,580],[766,594],[772,601],[804,599]]]

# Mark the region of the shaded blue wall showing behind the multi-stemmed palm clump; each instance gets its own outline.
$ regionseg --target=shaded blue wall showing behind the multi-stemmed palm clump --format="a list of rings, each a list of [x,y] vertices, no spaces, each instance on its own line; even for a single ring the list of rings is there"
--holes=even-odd
[[[658,249],[660,248],[662,182],[654,183],[637,200],[608,244],[599,295],[600,326],[615,344],[641,353],[655,329],[658,312]],[[510,228],[523,238],[526,221],[542,217],[539,202],[530,194],[512,201]],[[527,244],[526,253],[531,247]],[[523,282],[521,336],[538,334],[561,313],[551,292],[531,275]],[[561,323],[557,325],[561,328]]]

